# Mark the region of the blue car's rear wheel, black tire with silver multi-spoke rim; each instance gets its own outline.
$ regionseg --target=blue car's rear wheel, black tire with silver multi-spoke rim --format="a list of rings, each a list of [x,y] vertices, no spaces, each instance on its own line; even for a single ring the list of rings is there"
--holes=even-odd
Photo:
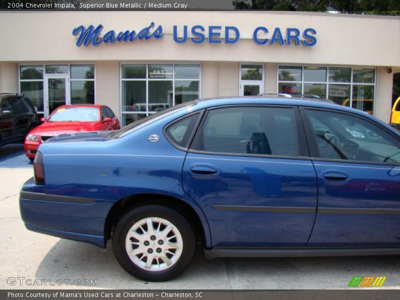
[[[129,274],[146,281],[164,281],[179,275],[190,264],[195,238],[189,222],[177,211],[145,205],[119,219],[112,247],[119,264]]]

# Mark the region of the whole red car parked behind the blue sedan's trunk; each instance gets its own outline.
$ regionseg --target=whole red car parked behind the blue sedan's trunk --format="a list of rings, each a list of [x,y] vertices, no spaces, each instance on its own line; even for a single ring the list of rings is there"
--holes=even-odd
[[[32,161],[39,145],[54,135],[120,128],[118,118],[105,105],[62,105],[40,121],[25,137],[25,154]]]

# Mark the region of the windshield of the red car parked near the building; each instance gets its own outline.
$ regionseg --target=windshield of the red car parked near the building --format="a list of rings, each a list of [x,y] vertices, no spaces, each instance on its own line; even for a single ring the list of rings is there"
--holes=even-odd
[[[98,108],[96,107],[64,107],[57,108],[48,118],[50,122],[61,121],[98,121]]]

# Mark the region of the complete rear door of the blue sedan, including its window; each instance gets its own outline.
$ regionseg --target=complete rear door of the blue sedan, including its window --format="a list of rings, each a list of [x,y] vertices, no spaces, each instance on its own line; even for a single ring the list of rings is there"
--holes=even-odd
[[[296,107],[210,109],[186,155],[184,191],[207,216],[213,246],[304,246],[316,175]]]

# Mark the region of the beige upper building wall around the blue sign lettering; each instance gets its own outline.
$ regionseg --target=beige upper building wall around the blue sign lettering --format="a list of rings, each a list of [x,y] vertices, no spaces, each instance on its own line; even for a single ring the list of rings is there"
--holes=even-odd
[[[173,15],[173,17],[171,17]],[[93,24],[108,30],[140,30],[154,21],[162,25],[159,40],[76,47],[72,29]],[[172,26],[184,24],[234,25],[240,31],[236,44],[177,44]],[[266,11],[1,11],[2,61],[258,61],[342,65],[400,66],[400,19],[326,13]],[[317,31],[313,47],[256,45],[252,32],[257,26],[282,29],[307,27]],[[351,30],[350,30],[351,28]],[[26,47],[17,46],[21,44]],[[15,45],[15,46],[13,46]]]

